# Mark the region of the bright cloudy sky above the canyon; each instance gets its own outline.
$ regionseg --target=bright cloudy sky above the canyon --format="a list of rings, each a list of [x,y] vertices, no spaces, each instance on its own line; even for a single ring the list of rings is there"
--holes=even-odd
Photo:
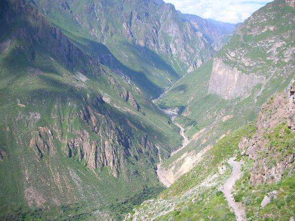
[[[164,0],[182,13],[220,22],[239,23],[272,0]]]

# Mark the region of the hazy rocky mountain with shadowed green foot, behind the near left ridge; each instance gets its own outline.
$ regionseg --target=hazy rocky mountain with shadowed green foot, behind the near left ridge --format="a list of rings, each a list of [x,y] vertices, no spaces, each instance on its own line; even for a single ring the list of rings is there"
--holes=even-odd
[[[163,1],[33,2],[77,41],[84,41],[91,49],[97,43],[106,45],[121,64],[134,72],[133,78],[138,77],[142,85],[169,87],[215,54],[204,30],[183,20],[172,4]],[[143,81],[144,77],[151,82]],[[154,97],[161,92],[155,85],[149,91]]]

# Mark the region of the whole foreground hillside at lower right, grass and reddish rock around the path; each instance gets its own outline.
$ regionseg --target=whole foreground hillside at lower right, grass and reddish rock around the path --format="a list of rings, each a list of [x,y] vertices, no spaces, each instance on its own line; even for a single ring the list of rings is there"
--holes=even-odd
[[[190,172],[126,220],[236,220],[223,194],[233,159],[242,165],[233,199],[246,213],[242,220],[293,220],[294,91],[293,81],[262,107],[256,128],[248,124],[217,141]]]

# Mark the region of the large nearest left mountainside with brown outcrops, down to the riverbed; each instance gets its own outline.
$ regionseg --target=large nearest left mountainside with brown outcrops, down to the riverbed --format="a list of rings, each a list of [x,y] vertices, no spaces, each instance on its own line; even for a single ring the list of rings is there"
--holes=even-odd
[[[0,27],[1,219],[105,220],[158,193],[180,136],[146,92],[26,1]]]

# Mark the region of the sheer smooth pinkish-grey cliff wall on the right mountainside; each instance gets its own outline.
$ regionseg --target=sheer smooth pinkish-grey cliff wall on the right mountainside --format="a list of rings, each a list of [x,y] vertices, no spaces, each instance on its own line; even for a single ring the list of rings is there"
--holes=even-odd
[[[220,58],[213,61],[209,82],[209,94],[217,94],[224,99],[234,99],[247,95],[264,78],[254,74],[243,74],[235,67],[225,64]]]

